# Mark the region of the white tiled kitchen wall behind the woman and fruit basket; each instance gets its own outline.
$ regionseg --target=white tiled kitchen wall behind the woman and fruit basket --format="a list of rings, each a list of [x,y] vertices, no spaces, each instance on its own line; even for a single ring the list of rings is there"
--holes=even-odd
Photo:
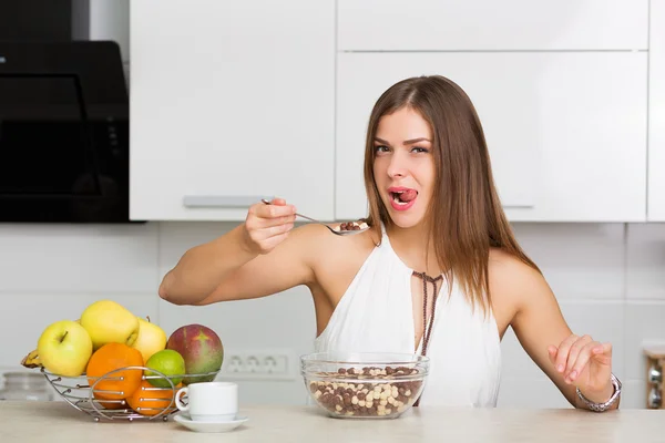
[[[117,40],[129,64],[129,0],[92,0],[93,38]],[[151,223],[141,226],[0,225],[0,372],[20,370],[50,322],[75,319],[90,302],[114,299],[150,316],[167,333],[200,322],[227,349],[311,350],[314,308],[296,288],[259,300],[175,307],[158,299],[164,272],[190,247],[233,224]],[[614,344],[624,381],[623,408],[645,404],[645,341],[665,342],[665,224],[516,224],[528,254],[543,269],[574,331]],[[509,332],[500,406],[567,406]],[[294,362],[297,363],[297,362]],[[243,402],[300,403],[294,381],[243,382]]]

